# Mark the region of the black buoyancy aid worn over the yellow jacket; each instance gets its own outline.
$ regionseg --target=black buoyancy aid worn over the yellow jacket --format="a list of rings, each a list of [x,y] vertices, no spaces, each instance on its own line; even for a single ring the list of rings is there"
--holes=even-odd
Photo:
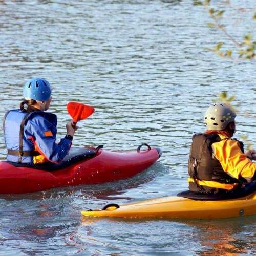
[[[229,139],[229,138],[228,138]],[[195,134],[188,159],[188,174],[194,181],[206,180],[232,184],[238,182],[226,174],[219,160],[212,153],[212,143],[221,141],[218,134]],[[240,142],[242,152],[243,143]]]

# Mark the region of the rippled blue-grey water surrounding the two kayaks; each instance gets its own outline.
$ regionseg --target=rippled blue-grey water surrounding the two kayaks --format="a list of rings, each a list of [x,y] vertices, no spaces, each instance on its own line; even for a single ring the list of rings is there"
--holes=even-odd
[[[255,31],[239,20],[241,1],[232,4],[233,35]],[[255,3],[243,1],[243,7]],[[175,222],[80,216],[82,209],[187,189],[191,136],[204,130],[204,110],[223,90],[237,96],[236,136],[255,141],[255,61],[233,62],[204,51],[221,37],[205,26],[209,21],[188,0],[0,1],[1,119],[17,108],[23,84],[41,76],[53,87],[58,138],[70,120],[65,105],[77,100],[96,111],[79,123],[75,146],[126,150],[147,142],[163,150],[155,165],[127,180],[1,196],[0,254],[255,253],[253,216]],[[4,159],[2,130],[0,137]]]

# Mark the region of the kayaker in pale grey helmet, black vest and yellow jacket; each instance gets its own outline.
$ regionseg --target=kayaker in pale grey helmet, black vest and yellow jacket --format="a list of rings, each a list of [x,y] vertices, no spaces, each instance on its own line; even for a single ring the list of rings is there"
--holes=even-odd
[[[189,190],[227,193],[255,178],[255,150],[231,139],[236,131],[236,113],[224,103],[210,106],[204,116],[206,132],[193,136],[188,161]],[[254,178],[253,178],[254,177]]]

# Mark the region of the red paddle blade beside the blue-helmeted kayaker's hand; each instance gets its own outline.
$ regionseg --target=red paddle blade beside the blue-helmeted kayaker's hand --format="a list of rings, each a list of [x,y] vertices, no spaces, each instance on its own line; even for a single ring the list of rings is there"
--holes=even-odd
[[[67,110],[73,118],[74,125],[83,119],[88,118],[94,112],[94,108],[79,102],[71,101],[67,104]]]

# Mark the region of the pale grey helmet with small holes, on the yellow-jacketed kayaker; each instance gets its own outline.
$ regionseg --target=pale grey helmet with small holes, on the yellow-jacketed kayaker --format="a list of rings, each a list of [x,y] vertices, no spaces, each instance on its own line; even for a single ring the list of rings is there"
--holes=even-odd
[[[204,122],[207,130],[221,131],[234,121],[236,113],[225,103],[217,103],[210,106],[204,114]]]

